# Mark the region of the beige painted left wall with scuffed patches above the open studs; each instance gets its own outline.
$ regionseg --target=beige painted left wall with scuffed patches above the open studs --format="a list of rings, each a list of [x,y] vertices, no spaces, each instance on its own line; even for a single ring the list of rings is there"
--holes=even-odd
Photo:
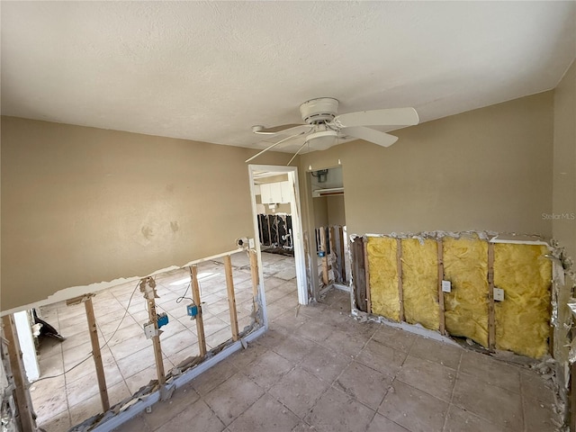
[[[234,249],[255,152],[2,117],[1,310]]]

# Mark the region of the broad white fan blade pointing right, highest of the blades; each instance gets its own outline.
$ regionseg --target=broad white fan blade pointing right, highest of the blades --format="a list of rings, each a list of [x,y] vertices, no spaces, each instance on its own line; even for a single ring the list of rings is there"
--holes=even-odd
[[[338,128],[348,128],[355,126],[412,126],[418,122],[418,112],[414,108],[391,108],[348,112],[337,115],[332,124]]]

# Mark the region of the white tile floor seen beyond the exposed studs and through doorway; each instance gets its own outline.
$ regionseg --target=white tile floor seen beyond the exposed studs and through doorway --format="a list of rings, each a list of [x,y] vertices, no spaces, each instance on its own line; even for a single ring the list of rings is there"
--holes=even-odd
[[[293,257],[263,256],[266,291],[269,291],[268,311],[274,313],[293,308],[297,303]],[[220,259],[198,266],[208,349],[231,337],[222,263]],[[246,252],[232,256],[240,330],[251,322],[252,284],[248,263]],[[196,323],[186,315],[186,304],[190,301],[181,299],[184,295],[191,297],[189,289],[185,293],[189,281],[190,275],[184,269],[156,278],[157,312],[166,311],[169,318],[161,336],[166,372],[188,356],[198,354]],[[106,384],[113,405],[156,379],[152,344],[142,330],[142,325],[148,321],[148,311],[135,283],[97,293],[93,302]],[[92,347],[83,304],[66,306],[65,302],[59,302],[42,307],[40,313],[66,340],[61,343],[49,338],[41,341],[40,378],[59,376],[32,383],[32,404],[40,428],[60,432],[102,412],[94,361],[90,358]],[[78,365],[83,360],[85,362]],[[64,371],[67,372],[63,374]]]

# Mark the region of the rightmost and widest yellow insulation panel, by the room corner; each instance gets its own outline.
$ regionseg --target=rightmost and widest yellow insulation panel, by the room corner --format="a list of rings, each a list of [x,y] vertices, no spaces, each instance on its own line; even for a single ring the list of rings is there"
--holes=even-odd
[[[541,245],[494,245],[494,286],[504,290],[495,302],[496,347],[540,358],[548,352],[552,263]]]

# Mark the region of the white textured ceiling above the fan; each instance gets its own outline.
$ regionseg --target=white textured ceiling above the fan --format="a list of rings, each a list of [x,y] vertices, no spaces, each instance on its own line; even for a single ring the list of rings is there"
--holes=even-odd
[[[429,121],[554,88],[576,53],[574,2],[1,7],[3,114],[255,148],[314,97]]]

